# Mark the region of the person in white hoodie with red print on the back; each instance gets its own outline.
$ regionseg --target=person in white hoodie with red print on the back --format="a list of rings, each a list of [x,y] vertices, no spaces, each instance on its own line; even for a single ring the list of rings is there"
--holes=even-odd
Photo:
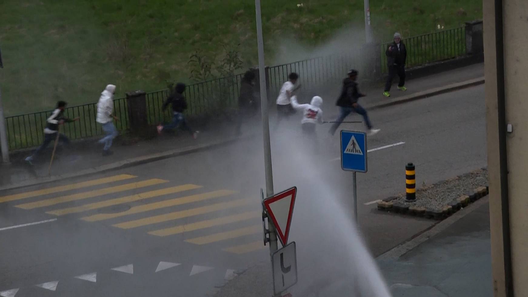
[[[297,110],[303,110],[303,119],[301,122],[301,128],[305,135],[307,142],[313,143],[315,151],[317,152],[317,135],[316,135],[316,124],[323,123],[323,98],[314,96],[310,104],[299,104],[297,102],[297,96],[291,97],[291,107]]]

